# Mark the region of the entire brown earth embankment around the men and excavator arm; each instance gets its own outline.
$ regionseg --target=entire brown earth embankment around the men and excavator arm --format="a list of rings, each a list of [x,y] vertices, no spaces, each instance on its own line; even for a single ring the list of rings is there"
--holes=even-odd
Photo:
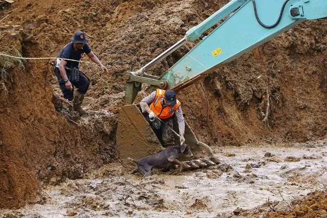
[[[43,204],[47,197],[42,185],[87,178],[92,170],[116,162],[122,73],[144,66],[226,3],[19,0],[0,10],[0,19],[6,17],[0,22],[1,53],[15,55],[15,48],[24,57],[55,57],[76,30],[83,30],[109,69],[106,74],[94,64],[81,64],[91,79],[84,101],[90,114],[82,118],[62,98],[52,61],[29,60],[24,69],[10,67],[6,77],[2,72],[0,207]],[[326,32],[326,20],[306,21],[180,91],[178,98],[195,135],[212,147],[324,140]],[[149,73],[161,75],[194,45],[188,43]],[[267,102],[271,113],[264,123]],[[199,209],[204,205],[190,203]]]

